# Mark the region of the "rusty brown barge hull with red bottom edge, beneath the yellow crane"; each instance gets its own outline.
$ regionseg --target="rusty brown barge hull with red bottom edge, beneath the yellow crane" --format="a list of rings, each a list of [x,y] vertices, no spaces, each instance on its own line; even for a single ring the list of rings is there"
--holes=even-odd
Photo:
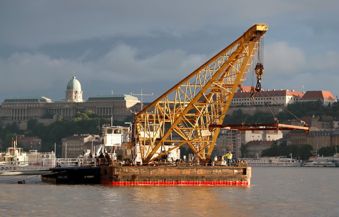
[[[104,185],[250,185],[251,167],[103,166]]]

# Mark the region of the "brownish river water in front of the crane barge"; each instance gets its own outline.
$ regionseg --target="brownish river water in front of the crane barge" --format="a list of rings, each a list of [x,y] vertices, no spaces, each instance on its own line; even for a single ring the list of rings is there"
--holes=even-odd
[[[0,177],[0,216],[339,216],[339,168],[252,167],[251,186],[55,185]],[[27,179],[22,177],[22,179]]]

